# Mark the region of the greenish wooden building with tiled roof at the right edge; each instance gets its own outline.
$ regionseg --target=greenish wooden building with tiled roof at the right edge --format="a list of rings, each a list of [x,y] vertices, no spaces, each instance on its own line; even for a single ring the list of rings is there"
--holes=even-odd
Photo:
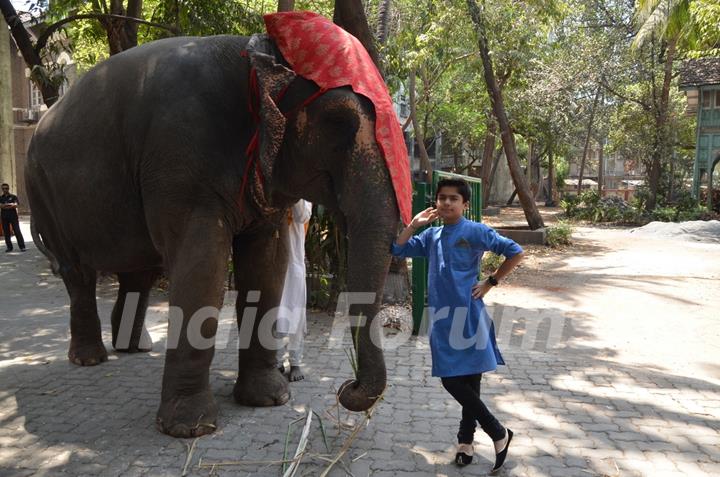
[[[712,209],[713,170],[720,162],[720,58],[688,60],[680,72],[681,90],[687,95],[687,113],[697,117],[693,195],[707,186]]]

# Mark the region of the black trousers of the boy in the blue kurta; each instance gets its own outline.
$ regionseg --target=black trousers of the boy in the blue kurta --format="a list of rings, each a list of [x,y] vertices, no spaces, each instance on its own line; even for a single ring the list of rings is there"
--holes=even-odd
[[[472,444],[475,439],[475,424],[480,427],[493,441],[505,437],[505,428],[495,419],[484,402],[480,399],[480,381],[482,374],[453,376],[441,378],[443,387],[462,406],[462,419],[458,431],[460,444]]]

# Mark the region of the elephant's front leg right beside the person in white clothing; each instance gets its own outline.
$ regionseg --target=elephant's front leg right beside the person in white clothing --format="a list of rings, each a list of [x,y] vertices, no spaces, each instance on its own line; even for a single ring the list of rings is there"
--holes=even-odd
[[[240,338],[235,401],[245,406],[285,404],[290,390],[277,367],[279,341],[273,329],[287,269],[287,227],[236,237],[233,261]]]

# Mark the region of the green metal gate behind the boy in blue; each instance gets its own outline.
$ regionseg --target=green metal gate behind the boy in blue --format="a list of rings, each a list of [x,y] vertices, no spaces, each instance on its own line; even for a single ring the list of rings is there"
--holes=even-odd
[[[428,207],[435,206],[435,191],[440,179],[453,178],[465,179],[470,184],[472,194],[470,195],[470,207],[465,211],[465,217],[475,222],[482,222],[482,182],[480,178],[442,171],[433,172],[431,184],[427,182],[414,184],[413,216]],[[418,230],[418,233],[421,230]],[[420,329],[427,304],[427,259],[425,258],[412,259],[412,295],[413,334],[425,333],[427,330]]]

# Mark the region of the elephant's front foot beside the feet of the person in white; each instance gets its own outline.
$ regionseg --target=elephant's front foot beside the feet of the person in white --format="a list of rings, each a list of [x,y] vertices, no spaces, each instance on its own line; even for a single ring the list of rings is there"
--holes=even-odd
[[[285,376],[272,367],[239,374],[233,396],[243,406],[282,406],[290,400],[290,388]]]

